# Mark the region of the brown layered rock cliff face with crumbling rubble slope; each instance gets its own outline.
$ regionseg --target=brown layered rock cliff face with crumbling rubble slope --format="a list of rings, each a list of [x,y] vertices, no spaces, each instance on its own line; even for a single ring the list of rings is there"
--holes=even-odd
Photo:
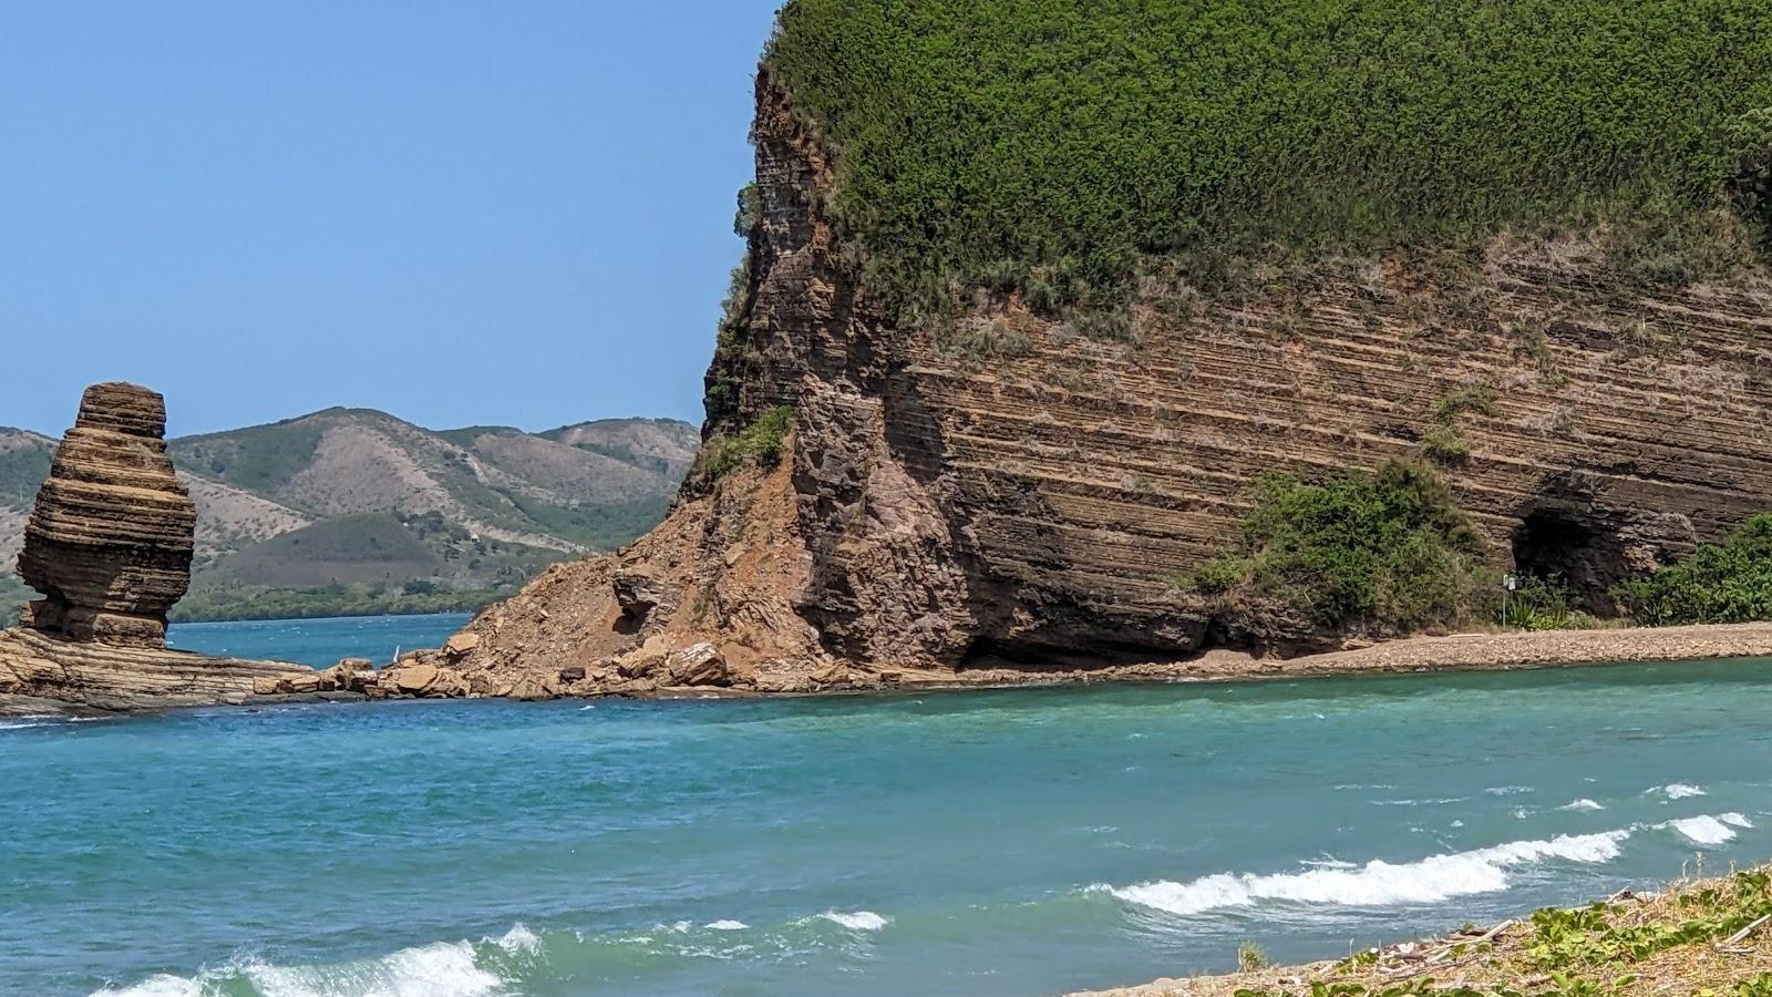
[[[1469,451],[1442,447],[1444,470],[1494,561],[1559,571],[1600,612],[1620,577],[1772,493],[1756,282],[1623,289],[1593,238],[1496,239],[1242,296],[1150,271],[1129,341],[1077,337],[1014,294],[907,330],[843,252],[829,153],[767,75],[755,138],[751,289],[711,373],[735,413],[711,433],[792,406],[785,467],[691,481],[620,557],[484,614],[461,667],[668,683],[664,655],[707,642],[721,685],[804,688],[1320,649],[1340,635],[1212,608],[1173,578],[1235,536],[1258,474],[1418,458],[1430,431]],[[1460,404],[1473,392],[1494,401]],[[636,600],[636,578],[666,598]]]

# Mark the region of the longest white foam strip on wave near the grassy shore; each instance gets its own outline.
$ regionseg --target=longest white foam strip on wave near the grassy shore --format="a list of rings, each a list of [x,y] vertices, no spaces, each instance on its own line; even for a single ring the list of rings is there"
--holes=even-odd
[[[1168,880],[1131,887],[1097,883],[1090,891],[1109,892],[1127,903],[1184,917],[1262,901],[1324,907],[1434,903],[1508,889],[1506,869],[1513,866],[1545,859],[1609,862],[1618,857],[1618,846],[1627,837],[1628,830],[1609,830],[1559,836],[1550,841],[1512,841],[1474,852],[1434,855],[1419,862],[1372,860],[1348,869],[1310,869],[1271,876],[1221,873],[1187,883]]]

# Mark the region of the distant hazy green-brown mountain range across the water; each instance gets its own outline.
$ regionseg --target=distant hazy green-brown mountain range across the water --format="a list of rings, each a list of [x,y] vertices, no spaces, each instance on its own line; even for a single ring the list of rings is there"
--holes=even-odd
[[[197,500],[175,619],[473,608],[652,529],[698,445],[673,419],[436,431],[365,408],[175,438]],[[11,571],[53,452],[0,428],[0,617],[30,594]]]

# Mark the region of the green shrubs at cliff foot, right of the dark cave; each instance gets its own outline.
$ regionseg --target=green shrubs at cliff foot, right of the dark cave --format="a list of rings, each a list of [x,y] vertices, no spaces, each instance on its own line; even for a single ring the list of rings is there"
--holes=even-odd
[[[1772,619],[1772,513],[1749,518],[1722,543],[1699,545],[1678,564],[1618,585],[1613,600],[1648,626]]]

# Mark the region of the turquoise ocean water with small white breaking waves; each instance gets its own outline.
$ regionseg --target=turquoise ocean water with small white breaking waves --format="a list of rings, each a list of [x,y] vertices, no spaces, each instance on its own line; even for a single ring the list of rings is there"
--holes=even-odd
[[[1772,857],[1772,662],[0,727],[4,993],[1038,995]]]

